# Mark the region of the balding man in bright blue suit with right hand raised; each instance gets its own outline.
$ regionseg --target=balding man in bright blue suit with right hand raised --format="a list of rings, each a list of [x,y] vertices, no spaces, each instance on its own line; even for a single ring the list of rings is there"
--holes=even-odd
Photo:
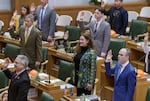
[[[106,73],[114,74],[114,93],[112,101],[133,101],[136,85],[136,73],[129,62],[129,50],[122,48],[118,54],[118,62],[112,66],[112,52],[109,51],[105,61]]]

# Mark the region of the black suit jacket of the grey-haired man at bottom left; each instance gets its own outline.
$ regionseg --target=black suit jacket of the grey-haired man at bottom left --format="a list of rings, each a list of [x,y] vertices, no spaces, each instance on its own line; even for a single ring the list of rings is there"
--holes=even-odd
[[[30,88],[30,79],[27,71],[23,71],[17,77],[14,77],[15,72],[10,72],[8,69],[3,72],[11,79],[8,89],[8,101],[27,101],[27,94]]]

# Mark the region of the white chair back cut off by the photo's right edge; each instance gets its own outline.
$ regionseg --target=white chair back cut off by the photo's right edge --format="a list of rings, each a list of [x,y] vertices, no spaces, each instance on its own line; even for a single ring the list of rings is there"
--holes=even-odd
[[[150,7],[142,7],[140,17],[150,18]]]

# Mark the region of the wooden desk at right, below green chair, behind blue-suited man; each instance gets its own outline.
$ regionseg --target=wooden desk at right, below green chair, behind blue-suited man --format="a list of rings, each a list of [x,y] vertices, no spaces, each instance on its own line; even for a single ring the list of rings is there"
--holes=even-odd
[[[130,49],[130,61],[138,69],[144,70],[144,51],[140,45],[134,41],[127,41],[126,47]]]

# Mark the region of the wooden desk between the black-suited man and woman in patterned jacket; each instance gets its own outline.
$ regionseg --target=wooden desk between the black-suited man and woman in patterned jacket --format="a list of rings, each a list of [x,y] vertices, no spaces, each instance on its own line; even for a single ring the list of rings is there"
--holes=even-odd
[[[56,80],[57,78],[51,76],[50,79]],[[64,81],[58,81],[56,83],[52,83],[52,85],[46,85],[39,81],[31,80],[31,86],[33,86],[41,91],[49,93],[50,95],[52,95],[54,97],[54,101],[59,101],[59,99],[64,96],[64,89],[61,89],[60,87],[65,84],[67,84],[67,83],[65,83]],[[67,90],[68,90],[67,94],[69,94],[72,90],[74,96],[76,96],[76,87],[75,86],[73,86],[72,88],[67,88]]]

